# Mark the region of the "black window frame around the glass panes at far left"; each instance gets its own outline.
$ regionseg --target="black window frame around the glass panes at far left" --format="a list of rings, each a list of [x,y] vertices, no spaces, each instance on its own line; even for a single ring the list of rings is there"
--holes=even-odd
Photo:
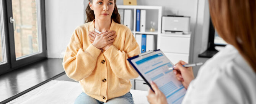
[[[12,15],[12,1],[11,0],[2,0],[3,2],[3,17],[4,17],[4,24],[5,24],[5,42],[6,42],[6,53],[7,53],[7,60],[6,64],[0,65],[0,75],[6,72],[10,72],[17,68],[23,67],[25,65],[37,62],[42,59],[47,58],[47,43],[46,43],[46,20],[45,20],[45,0],[38,0],[40,3],[40,20],[41,21],[41,41],[42,42],[42,52],[39,54],[31,55],[29,57],[16,60],[15,54],[15,39],[14,39],[14,31],[13,31],[13,24],[10,23],[10,17]],[[39,19],[39,18],[38,18]],[[39,29],[39,31],[40,31]]]

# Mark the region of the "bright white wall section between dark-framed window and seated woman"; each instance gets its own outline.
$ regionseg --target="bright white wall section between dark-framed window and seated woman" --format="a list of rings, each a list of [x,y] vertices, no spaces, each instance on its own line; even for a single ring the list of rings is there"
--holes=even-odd
[[[63,58],[75,28],[84,23],[84,0],[46,0],[46,36],[49,58]]]

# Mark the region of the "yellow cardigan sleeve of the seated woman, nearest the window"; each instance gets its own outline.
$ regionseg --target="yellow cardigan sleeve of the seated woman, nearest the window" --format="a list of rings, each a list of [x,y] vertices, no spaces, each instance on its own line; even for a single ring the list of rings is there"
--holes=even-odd
[[[75,81],[80,81],[91,75],[101,52],[92,44],[83,50],[82,35],[83,31],[78,27],[72,34],[62,63],[67,76]]]

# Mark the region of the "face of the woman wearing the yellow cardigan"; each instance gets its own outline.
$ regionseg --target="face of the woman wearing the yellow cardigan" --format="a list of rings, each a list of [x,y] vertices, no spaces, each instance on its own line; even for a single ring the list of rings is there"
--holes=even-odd
[[[114,0],[92,0],[89,5],[96,19],[111,20],[115,7]]]

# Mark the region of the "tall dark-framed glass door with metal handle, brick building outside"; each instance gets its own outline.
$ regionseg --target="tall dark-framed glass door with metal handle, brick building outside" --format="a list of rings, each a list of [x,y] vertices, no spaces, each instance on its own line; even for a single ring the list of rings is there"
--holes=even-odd
[[[42,23],[44,0],[7,0],[8,32],[12,67],[46,57]],[[14,63],[14,64],[13,64]]]

